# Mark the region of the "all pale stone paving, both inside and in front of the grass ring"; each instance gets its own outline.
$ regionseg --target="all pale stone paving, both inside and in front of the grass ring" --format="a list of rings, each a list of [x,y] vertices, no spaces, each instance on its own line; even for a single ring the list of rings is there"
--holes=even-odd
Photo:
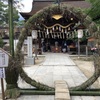
[[[25,72],[36,81],[54,87],[54,81],[65,80],[69,87],[77,86],[87,80],[67,53],[46,53],[43,63],[24,67]],[[19,87],[33,88],[19,78]],[[72,100],[100,100],[94,96],[72,96]],[[23,95],[17,100],[54,100],[54,96]]]

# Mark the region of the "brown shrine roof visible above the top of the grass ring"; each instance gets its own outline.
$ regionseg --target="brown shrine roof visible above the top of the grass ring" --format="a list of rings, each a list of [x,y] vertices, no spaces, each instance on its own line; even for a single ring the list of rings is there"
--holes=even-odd
[[[54,1],[55,0],[33,0],[32,10],[29,13],[21,12],[21,15],[25,19],[28,19],[30,16],[35,14],[37,11],[53,4]],[[84,0],[61,0],[61,1],[62,1],[61,4],[68,4],[74,7],[89,8],[91,6],[90,3]]]

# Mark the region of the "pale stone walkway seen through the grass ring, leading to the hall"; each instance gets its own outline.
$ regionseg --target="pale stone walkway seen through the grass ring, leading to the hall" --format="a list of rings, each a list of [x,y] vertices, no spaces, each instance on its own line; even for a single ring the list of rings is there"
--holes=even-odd
[[[24,68],[31,78],[52,87],[54,87],[55,80],[65,80],[69,87],[77,86],[86,81],[87,78],[77,68],[68,54],[48,53],[45,56],[45,61],[40,65]],[[22,86],[29,87],[26,84]]]

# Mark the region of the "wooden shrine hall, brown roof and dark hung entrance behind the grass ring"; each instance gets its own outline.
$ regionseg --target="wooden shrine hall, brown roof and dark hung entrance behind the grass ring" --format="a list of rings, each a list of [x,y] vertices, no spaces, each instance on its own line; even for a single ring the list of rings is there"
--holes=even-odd
[[[41,9],[55,3],[58,6],[67,4],[77,8],[89,8],[91,6],[85,0],[33,0],[32,10],[29,13],[20,12],[20,14],[27,21]],[[69,49],[67,47],[75,50],[76,43],[72,38],[75,38],[74,26],[77,23],[79,23],[79,19],[73,14],[69,14],[67,19],[66,15],[62,16],[61,14],[48,16],[42,23],[42,28],[37,30],[39,48],[42,46],[44,52],[66,52]]]

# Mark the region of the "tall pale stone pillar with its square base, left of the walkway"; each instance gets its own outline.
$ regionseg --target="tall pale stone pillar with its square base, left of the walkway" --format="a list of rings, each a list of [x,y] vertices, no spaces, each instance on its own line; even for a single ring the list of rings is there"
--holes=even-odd
[[[27,58],[25,59],[26,65],[34,65],[35,60],[32,54],[32,36],[27,37]]]

